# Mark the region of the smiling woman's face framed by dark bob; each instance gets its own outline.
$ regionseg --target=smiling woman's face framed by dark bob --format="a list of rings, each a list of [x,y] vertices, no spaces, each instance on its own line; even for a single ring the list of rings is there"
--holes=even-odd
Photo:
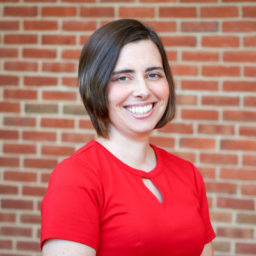
[[[154,42],[125,45],[108,87],[109,135],[150,134],[164,114],[169,86]]]

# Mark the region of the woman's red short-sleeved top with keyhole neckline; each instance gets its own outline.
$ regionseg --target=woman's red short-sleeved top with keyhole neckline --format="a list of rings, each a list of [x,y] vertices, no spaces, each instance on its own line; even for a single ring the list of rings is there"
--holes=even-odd
[[[58,164],[42,202],[41,247],[59,238],[92,246],[97,256],[200,256],[215,237],[204,180],[193,164],[152,147],[157,166],[148,173],[95,140]],[[163,204],[141,177],[159,188]]]

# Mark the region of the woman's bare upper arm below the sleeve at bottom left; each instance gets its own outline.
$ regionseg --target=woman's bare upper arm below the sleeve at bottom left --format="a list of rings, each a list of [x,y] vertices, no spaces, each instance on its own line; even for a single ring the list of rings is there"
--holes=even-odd
[[[95,256],[92,247],[63,239],[47,239],[43,244],[43,256]]]

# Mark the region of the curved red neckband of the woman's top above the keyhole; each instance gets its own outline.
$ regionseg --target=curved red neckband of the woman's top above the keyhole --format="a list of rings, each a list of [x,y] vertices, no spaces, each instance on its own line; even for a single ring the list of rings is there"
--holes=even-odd
[[[156,167],[153,170],[151,170],[150,172],[144,172],[144,171],[141,171],[141,170],[134,169],[131,166],[123,163],[117,157],[115,157],[111,152],[109,152],[109,150],[107,148],[102,146],[99,142],[97,142],[95,140],[92,140],[92,141],[95,142],[95,146],[97,148],[99,148],[102,152],[104,152],[104,154],[106,154],[113,161],[115,161],[117,164],[122,166],[125,170],[127,170],[128,172],[131,172],[134,175],[151,179],[151,178],[154,178],[157,175],[159,175],[159,173],[161,173],[162,170],[163,170],[163,159],[162,159],[162,156],[161,156],[161,154],[159,152],[159,149],[157,147],[155,147],[154,145],[150,144],[150,147],[152,147],[154,149],[154,152],[155,152],[156,157],[157,157]]]

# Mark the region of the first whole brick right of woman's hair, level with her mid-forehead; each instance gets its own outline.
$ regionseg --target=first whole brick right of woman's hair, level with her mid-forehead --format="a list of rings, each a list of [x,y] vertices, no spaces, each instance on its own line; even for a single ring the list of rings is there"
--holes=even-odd
[[[184,61],[219,61],[218,52],[182,52],[182,60]]]

